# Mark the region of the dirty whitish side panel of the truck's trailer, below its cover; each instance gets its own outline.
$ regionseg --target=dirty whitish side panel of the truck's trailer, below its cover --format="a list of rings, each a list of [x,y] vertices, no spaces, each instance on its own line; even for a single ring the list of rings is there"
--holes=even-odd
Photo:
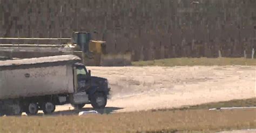
[[[0,71],[0,99],[73,93],[72,65]]]

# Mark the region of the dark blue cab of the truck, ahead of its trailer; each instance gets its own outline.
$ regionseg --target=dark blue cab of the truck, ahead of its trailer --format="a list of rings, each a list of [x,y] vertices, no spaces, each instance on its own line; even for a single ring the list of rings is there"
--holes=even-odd
[[[88,98],[87,103],[72,104],[74,108],[83,108],[85,104],[91,104],[93,108],[104,108],[106,106],[107,96],[110,91],[106,78],[91,76],[91,70],[87,71],[82,63],[74,64],[73,76],[74,92],[78,95],[84,93]]]

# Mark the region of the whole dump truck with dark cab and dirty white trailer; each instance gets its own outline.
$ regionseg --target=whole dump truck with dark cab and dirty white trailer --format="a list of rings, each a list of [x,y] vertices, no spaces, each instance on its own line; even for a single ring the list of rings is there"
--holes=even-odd
[[[91,76],[76,55],[0,61],[0,116],[51,114],[65,104],[104,108],[109,92],[107,79]]]

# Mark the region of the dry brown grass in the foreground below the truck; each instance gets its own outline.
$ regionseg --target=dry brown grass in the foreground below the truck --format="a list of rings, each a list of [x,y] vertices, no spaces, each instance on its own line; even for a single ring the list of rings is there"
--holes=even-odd
[[[143,112],[86,116],[1,117],[0,132],[213,132],[256,128],[256,109],[208,110],[253,106],[256,99],[232,100]]]

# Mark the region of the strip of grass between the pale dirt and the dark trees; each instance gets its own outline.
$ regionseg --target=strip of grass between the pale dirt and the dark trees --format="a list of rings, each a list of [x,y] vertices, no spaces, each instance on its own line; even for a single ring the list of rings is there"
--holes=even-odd
[[[158,65],[163,67],[173,67],[176,65],[256,65],[256,60],[250,58],[166,58],[154,61],[132,62],[135,66]]]

